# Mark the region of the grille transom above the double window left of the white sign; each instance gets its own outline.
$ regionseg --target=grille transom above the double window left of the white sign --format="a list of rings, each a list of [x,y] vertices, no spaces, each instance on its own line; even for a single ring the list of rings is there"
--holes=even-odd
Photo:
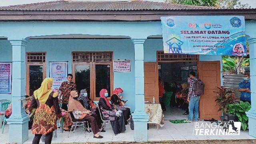
[[[111,62],[113,52],[73,52],[73,62]]]

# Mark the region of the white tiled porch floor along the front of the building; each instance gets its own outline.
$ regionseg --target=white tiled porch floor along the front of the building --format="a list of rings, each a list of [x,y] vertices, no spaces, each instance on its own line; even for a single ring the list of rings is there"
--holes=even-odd
[[[183,112],[184,110],[179,108],[168,108],[164,111],[164,126],[159,127],[159,130],[157,130],[154,124],[150,124],[148,141],[256,139],[248,135],[248,130],[241,131],[240,136],[193,136],[193,123],[173,124],[168,121],[174,119],[186,119],[187,116],[182,115]],[[104,138],[96,139],[93,138],[92,132],[86,132],[86,137],[84,137],[82,126],[78,127],[74,133],[71,133],[69,138],[68,132],[60,133],[60,130],[58,130],[58,137],[52,139],[52,144],[72,142],[134,142],[133,130],[131,130],[128,125],[126,126],[126,131],[117,136],[114,135],[109,124],[106,126],[106,131],[107,132],[101,133]],[[30,132],[31,131],[29,131],[29,138],[24,144],[32,143],[34,135],[30,134]],[[4,134],[0,134],[0,144],[6,144],[8,142],[8,137],[8,125],[6,125]]]

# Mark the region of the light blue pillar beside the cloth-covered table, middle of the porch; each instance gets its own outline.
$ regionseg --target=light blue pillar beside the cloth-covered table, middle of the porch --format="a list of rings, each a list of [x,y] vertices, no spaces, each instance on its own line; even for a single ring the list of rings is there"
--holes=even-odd
[[[135,111],[132,114],[134,120],[134,140],[146,142],[148,139],[147,122],[148,115],[144,108],[144,41],[145,39],[132,39],[135,50]]]

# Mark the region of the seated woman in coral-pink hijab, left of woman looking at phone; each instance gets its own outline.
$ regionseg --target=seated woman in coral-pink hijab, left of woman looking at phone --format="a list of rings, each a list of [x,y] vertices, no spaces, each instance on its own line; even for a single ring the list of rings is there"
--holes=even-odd
[[[124,132],[126,128],[122,111],[113,108],[107,97],[108,91],[106,89],[102,89],[100,91],[99,108],[102,111],[103,119],[110,120],[114,134]]]

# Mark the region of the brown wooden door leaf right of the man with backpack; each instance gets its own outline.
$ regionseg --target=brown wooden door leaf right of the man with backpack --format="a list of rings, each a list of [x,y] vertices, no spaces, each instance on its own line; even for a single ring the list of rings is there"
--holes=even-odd
[[[220,87],[220,61],[199,61],[198,76],[204,83],[204,95],[199,102],[200,119],[219,120],[221,112],[218,112],[214,91]]]

